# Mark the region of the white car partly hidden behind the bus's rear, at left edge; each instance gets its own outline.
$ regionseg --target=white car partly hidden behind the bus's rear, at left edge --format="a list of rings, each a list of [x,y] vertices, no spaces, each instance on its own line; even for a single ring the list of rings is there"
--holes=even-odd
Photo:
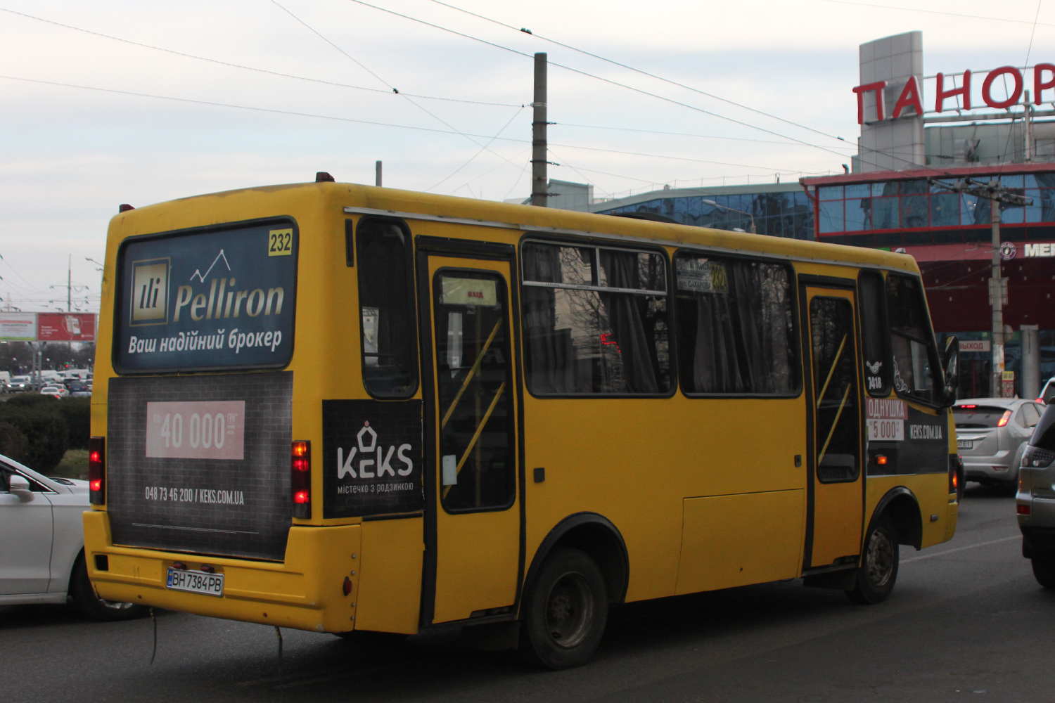
[[[84,567],[88,482],[49,479],[0,455],[0,605],[72,600],[93,620],[147,609],[98,598]]]

